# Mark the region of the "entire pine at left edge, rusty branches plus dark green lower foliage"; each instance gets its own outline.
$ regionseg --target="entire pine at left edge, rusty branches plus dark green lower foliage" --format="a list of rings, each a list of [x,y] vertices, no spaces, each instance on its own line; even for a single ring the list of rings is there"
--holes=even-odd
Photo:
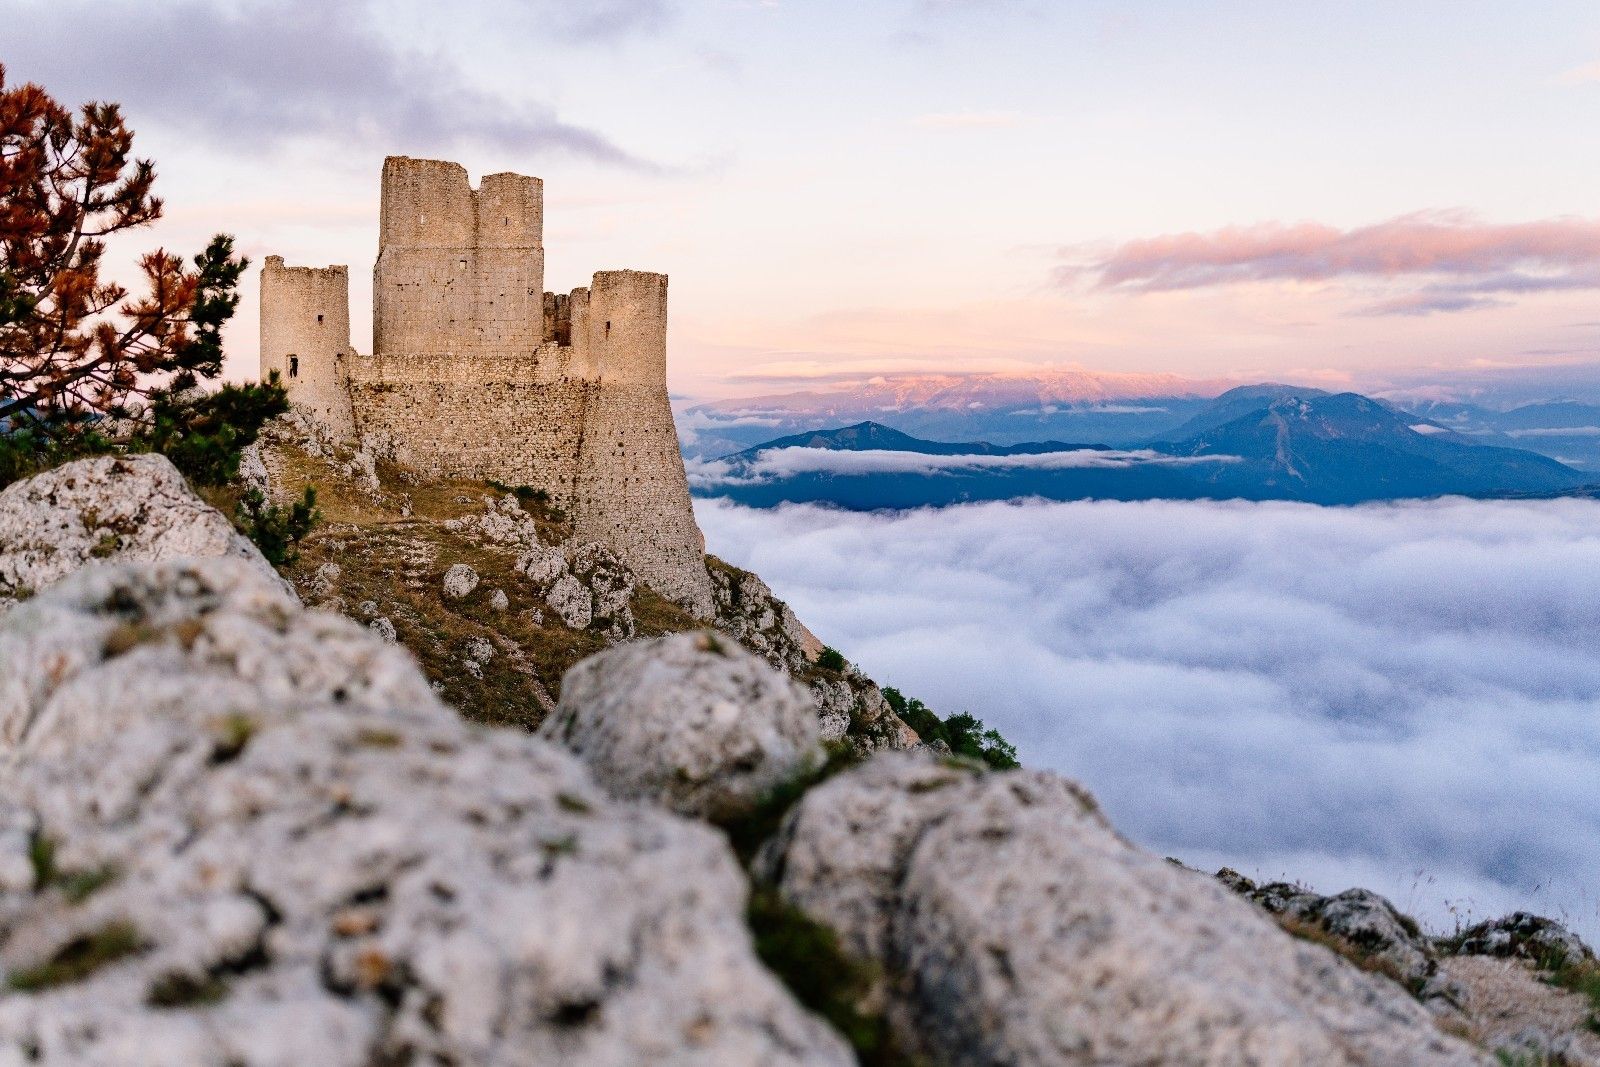
[[[146,291],[101,277],[106,238],[162,216],[155,166],[133,158],[115,104],[77,117],[0,67],[0,485],[106,451],[160,451],[197,485],[286,410],[275,384],[222,373],[222,326],[246,261],[219,234],[189,266],[155,250]]]

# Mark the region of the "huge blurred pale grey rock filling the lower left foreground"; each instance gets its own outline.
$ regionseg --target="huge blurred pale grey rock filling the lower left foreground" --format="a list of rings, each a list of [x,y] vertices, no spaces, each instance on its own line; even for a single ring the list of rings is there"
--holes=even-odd
[[[851,1062],[718,833],[248,565],[21,605],[0,725],[0,1064]]]

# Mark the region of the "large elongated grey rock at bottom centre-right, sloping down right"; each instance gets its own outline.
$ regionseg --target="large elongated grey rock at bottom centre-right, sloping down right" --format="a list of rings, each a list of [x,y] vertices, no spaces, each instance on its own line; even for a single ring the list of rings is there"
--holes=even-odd
[[[1493,1062],[1050,774],[877,757],[811,790],[763,869],[950,1064]]]

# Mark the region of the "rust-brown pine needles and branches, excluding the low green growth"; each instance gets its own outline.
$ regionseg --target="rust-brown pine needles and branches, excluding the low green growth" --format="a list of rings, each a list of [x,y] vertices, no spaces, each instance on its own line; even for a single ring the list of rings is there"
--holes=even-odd
[[[221,371],[216,262],[152,251],[141,296],[101,278],[106,238],[162,214],[131,152],[117,104],[74,115],[0,66],[0,421],[83,424]]]

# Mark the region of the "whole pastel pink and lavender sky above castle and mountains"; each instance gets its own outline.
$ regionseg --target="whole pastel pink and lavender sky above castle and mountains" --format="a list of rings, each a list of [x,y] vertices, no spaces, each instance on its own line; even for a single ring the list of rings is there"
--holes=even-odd
[[[1378,389],[1600,362],[1592,0],[8,0],[168,219],[352,267],[386,154],[546,179],[547,286],[672,275],[672,386],[1082,365]],[[230,334],[256,355],[254,280]]]

